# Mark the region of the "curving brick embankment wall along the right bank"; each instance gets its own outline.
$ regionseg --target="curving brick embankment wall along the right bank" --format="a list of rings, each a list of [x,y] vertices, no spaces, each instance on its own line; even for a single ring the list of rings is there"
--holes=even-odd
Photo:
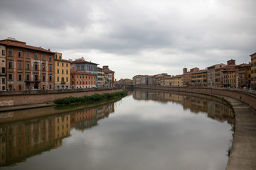
[[[245,89],[211,89],[201,87],[164,87],[164,86],[133,86],[133,89],[155,89],[165,91],[182,91],[196,94],[213,94],[228,96],[238,99],[239,101],[246,103],[250,107],[256,110],[256,91],[250,91]]]

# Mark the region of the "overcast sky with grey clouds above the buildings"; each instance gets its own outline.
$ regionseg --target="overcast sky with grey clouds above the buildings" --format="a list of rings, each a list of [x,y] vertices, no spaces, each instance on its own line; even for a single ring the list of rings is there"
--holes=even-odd
[[[255,0],[0,0],[0,39],[109,65],[117,80],[256,52]]]

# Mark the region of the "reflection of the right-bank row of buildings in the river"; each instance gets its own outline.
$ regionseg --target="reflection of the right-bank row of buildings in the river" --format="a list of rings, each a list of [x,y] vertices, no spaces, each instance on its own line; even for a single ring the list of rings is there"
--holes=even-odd
[[[133,98],[136,100],[158,101],[161,103],[173,102],[181,104],[184,110],[189,110],[193,113],[207,113],[209,118],[213,118],[220,122],[228,121],[233,124],[234,113],[228,107],[225,101],[213,96],[205,96],[200,94],[186,94],[181,96],[181,93],[176,92],[159,92],[159,91],[133,91]],[[195,95],[195,96],[188,96]],[[200,97],[200,98],[199,98]]]

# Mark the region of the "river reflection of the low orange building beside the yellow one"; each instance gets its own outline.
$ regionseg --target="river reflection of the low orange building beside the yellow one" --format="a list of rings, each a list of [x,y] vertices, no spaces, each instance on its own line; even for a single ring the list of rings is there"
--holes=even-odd
[[[87,108],[77,113],[71,114],[71,126],[76,130],[85,130],[97,125],[97,109]]]

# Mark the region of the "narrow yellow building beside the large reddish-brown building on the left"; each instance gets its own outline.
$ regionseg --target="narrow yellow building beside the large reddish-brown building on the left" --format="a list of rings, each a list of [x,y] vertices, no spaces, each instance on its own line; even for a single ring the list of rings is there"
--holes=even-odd
[[[55,52],[55,89],[70,89],[70,61],[63,60],[62,54]]]

